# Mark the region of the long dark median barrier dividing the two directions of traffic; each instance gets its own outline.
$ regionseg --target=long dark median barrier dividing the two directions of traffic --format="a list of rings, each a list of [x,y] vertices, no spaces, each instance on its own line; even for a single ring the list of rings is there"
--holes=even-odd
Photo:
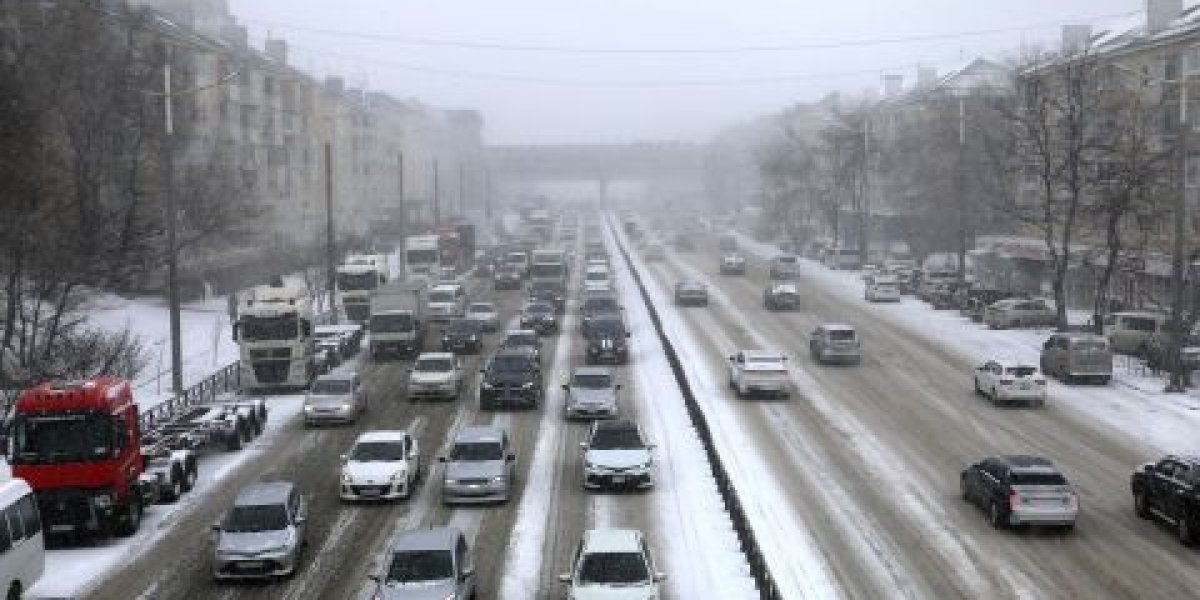
[[[775,578],[770,574],[767,559],[762,554],[757,538],[755,538],[754,528],[750,527],[750,520],[746,516],[745,508],[742,505],[742,499],[738,497],[738,491],[730,479],[730,473],[725,468],[725,463],[721,462],[720,454],[716,451],[716,443],[708,426],[708,418],[691,391],[691,384],[688,380],[688,373],[684,371],[683,362],[679,360],[679,355],[676,353],[671,340],[667,338],[666,332],[662,330],[662,320],[659,318],[659,311],[655,308],[654,302],[650,301],[650,294],[646,290],[641,272],[634,266],[634,260],[629,257],[629,252],[620,242],[611,222],[608,223],[608,228],[613,229],[613,239],[617,240],[617,248],[620,250],[620,254],[629,266],[629,272],[634,275],[634,281],[637,282],[637,289],[642,294],[642,301],[646,302],[646,308],[650,313],[650,322],[654,323],[654,331],[659,336],[659,342],[662,343],[667,362],[671,365],[671,372],[674,374],[676,383],[683,392],[688,416],[691,419],[691,425],[696,428],[696,434],[704,446],[704,455],[708,457],[708,466],[713,472],[713,479],[716,481],[716,490],[721,494],[725,510],[730,514],[733,530],[742,545],[742,552],[750,565],[750,576],[754,577],[755,586],[758,588],[758,598],[762,600],[780,600],[784,596],[780,594],[779,586],[775,584]]]

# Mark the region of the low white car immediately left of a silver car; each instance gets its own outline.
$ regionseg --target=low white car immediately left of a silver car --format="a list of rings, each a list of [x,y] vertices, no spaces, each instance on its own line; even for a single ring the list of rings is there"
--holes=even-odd
[[[342,455],[341,498],[408,498],[421,478],[421,454],[407,431],[366,431]]]

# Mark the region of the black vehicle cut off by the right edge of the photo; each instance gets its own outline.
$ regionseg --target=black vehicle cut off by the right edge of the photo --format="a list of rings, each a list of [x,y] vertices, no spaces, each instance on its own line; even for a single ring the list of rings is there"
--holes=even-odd
[[[1142,464],[1133,472],[1129,487],[1139,517],[1175,527],[1181,544],[1200,539],[1200,457],[1165,456]]]

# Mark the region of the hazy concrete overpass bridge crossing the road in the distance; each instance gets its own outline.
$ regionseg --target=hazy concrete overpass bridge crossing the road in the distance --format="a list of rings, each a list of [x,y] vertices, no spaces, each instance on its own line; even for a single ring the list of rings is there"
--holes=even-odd
[[[703,146],[676,142],[487,146],[493,184],[500,188],[554,182],[593,182],[600,198],[617,181],[698,190]]]

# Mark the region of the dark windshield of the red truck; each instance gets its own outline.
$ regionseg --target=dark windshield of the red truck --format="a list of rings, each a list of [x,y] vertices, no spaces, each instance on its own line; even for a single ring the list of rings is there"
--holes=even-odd
[[[98,413],[32,413],[12,425],[13,464],[44,464],[110,458],[125,438],[121,421]]]

